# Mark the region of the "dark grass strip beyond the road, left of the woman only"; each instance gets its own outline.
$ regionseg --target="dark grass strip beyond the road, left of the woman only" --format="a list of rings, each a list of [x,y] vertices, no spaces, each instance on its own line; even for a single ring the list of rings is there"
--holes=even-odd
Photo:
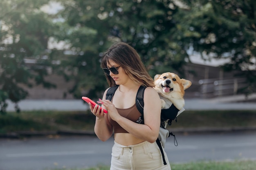
[[[0,133],[20,131],[93,130],[95,117],[87,112],[29,111],[0,115]]]

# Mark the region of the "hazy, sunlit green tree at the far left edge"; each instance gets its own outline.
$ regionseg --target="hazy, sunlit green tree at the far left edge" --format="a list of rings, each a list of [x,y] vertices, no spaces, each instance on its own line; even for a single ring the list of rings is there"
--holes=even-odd
[[[40,10],[49,0],[1,0],[0,2],[0,112],[5,113],[7,99],[16,103],[28,92],[20,85],[31,87],[32,82],[52,87],[46,82],[46,68],[50,66],[51,51],[48,39],[54,35],[54,24],[47,13]],[[29,66],[26,60],[33,61]]]

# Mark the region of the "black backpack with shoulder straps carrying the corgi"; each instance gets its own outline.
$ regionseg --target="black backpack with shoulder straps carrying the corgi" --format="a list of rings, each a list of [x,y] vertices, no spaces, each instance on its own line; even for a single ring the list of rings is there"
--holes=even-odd
[[[108,100],[110,100],[110,101],[112,100],[112,97],[113,97],[115,91],[117,90],[118,86],[119,86],[119,85],[112,86],[112,87],[110,87],[110,88],[108,89],[107,94],[106,94],[106,99],[108,99]],[[144,97],[144,91],[145,91],[145,89],[146,89],[145,86],[140,86],[140,87],[139,87],[139,90],[138,90],[138,92],[137,92],[137,95],[136,95],[135,104],[136,104],[137,109],[138,109],[139,112],[141,113],[141,117],[139,117],[139,119],[137,120],[137,123],[138,123],[138,124],[144,124],[144,112],[143,112],[143,110],[144,110],[144,100],[143,100],[143,97]],[[172,106],[173,106],[173,105],[172,105]],[[174,109],[175,109],[175,108],[174,108]],[[176,108],[176,109],[177,109],[177,108]],[[164,110],[163,113],[162,113],[162,110]],[[161,110],[161,120],[170,119],[170,118],[166,117],[166,115],[167,115],[167,113],[172,112],[172,111],[173,111],[173,108],[171,107],[171,108],[169,108],[169,109],[162,109],[162,110]],[[174,113],[176,113],[176,111],[175,111]],[[174,114],[174,115],[175,115],[175,114]],[[171,118],[170,120],[175,119],[176,116],[177,116],[177,113],[176,113],[175,116],[172,116],[172,118]],[[170,121],[170,120],[169,120],[169,121]],[[169,121],[168,121],[168,124],[171,125],[171,121],[170,121],[170,122],[169,122]],[[177,120],[176,120],[176,121],[177,121]],[[161,123],[161,126],[162,126],[162,123]],[[170,135],[174,136],[174,138],[175,138],[175,135],[173,135],[173,133],[169,131],[169,136],[168,136],[168,137],[170,137]],[[175,140],[176,140],[176,139],[175,139]],[[167,163],[166,163],[166,160],[165,160],[165,158],[164,158],[164,152],[163,152],[163,148],[162,148],[162,145],[161,145],[161,142],[160,142],[159,138],[157,138],[156,143],[157,143],[157,145],[158,145],[158,147],[159,147],[159,149],[160,149],[160,151],[161,151],[162,158],[163,158],[163,161],[164,161],[164,165],[166,165]],[[177,141],[176,141],[176,143],[177,143]],[[175,146],[177,146],[177,145],[175,145]]]

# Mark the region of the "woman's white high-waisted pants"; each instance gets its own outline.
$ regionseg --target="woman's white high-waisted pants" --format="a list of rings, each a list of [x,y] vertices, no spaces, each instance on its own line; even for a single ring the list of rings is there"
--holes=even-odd
[[[163,148],[164,150],[164,148]],[[164,165],[162,154],[156,142],[123,146],[115,142],[112,147],[110,170],[171,170],[166,152]]]

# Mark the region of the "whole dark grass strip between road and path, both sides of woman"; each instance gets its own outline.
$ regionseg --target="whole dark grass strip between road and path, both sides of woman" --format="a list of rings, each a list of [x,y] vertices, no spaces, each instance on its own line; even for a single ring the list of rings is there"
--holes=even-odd
[[[90,111],[29,111],[0,115],[0,134],[20,131],[93,131],[95,116]],[[168,128],[256,126],[255,110],[185,111]]]

